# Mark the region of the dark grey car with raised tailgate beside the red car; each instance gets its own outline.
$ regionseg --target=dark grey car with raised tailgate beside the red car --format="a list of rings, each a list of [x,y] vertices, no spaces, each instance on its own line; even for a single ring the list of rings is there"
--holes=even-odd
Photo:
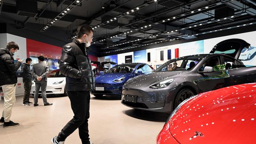
[[[121,102],[135,109],[171,113],[195,94],[256,82],[256,66],[246,67],[234,58],[239,57],[247,44],[240,39],[226,40],[217,44],[212,54],[167,61],[151,74],[126,82]]]

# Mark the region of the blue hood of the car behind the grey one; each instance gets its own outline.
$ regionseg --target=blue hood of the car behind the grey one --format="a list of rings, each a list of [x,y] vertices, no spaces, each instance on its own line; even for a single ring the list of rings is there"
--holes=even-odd
[[[109,74],[102,74],[95,78],[95,83],[108,83],[112,82],[114,79],[131,76],[131,73],[109,73]]]

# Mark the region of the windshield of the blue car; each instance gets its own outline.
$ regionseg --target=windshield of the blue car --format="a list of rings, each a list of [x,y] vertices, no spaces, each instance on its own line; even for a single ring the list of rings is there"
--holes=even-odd
[[[135,66],[137,64],[121,64],[121,65],[116,65],[110,70],[108,70],[109,73],[126,73],[126,72],[133,72]]]

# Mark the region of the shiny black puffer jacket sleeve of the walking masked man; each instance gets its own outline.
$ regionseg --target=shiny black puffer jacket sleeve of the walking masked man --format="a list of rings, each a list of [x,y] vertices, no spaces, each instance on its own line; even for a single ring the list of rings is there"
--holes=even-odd
[[[62,55],[59,63],[59,70],[61,74],[69,76],[74,79],[83,79],[82,71],[78,68],[74,68],[74,48],[69,45],[63,46]]]

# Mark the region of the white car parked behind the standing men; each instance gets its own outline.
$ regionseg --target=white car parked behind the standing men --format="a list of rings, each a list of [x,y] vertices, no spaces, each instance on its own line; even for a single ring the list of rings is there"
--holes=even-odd
[[[46,94],[64,94],[67,96],[65,85],[66,78],[61,74],[59,69],[53,70],[47,74]],[[30,94],[35,94],[35,82],[32,82]],[[41,88],[39,94],[41,94]]]

